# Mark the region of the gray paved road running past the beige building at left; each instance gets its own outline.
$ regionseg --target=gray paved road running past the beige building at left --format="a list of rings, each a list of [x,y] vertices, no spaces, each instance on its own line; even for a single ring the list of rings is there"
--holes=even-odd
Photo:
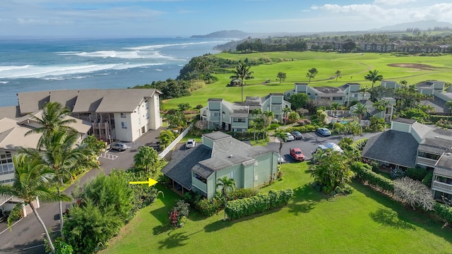
[[[156,137],[160,133],[158,131],[149,131],[145,135],[138,138],[138,145],[155,142]],[[88,171],[81,179],[67,188],[65,193],[71,195],[74,186],[83,186],[90,179],[93,179],[97,174],[109,174],[112,169],[129,169],[133,163],[133,156],[136,154],[138,147],[131,147],[124,152],[110,151],[112,155],[118,155],[117,159],[100,158],[101,169],[92,169]],[[41,207],[37,210],[40,217],[47,226],[47,229],[59,234],[59,206],[58,203],[41,203]],[[17,224],[12,226],[12,231],[6,229],[6,223],[0,223],[0,254],[15,254],[15,253],[30,253],[42,254],[45,253],[43,247],[44,231],[42,226],[37,222],[34,214],[30,214]],[[2,232],[3,231],[3,232]]]

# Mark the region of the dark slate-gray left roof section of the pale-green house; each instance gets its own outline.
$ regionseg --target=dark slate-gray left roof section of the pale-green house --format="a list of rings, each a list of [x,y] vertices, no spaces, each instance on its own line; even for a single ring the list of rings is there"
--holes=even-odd
[[[162,173],[177,181],[184,188],[191,190],[191,169],[196,167],[198,162],[210,158],[211,154],[212,150],[206,145],[198,145],[191,149],[174,152],[172,159],[162,169]]]

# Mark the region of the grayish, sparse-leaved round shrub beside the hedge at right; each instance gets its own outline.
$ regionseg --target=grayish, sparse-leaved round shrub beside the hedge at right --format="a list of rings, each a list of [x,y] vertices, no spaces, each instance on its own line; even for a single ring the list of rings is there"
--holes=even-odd
[[[413,210],[416,207],[421,207],[426,211],[434,210],[436,203],[432,191],[427,186],[409,177],[394,180],[394,195],[411,205]]]

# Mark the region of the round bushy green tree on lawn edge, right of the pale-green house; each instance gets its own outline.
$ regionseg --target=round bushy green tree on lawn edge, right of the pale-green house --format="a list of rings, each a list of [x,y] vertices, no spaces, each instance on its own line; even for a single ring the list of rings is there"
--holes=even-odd
[[[354,176],[349,160],[338,151],[317,151],[313,155],[315,164],[311,164],[309,172],[321,191],[330,194],[343,192]]]

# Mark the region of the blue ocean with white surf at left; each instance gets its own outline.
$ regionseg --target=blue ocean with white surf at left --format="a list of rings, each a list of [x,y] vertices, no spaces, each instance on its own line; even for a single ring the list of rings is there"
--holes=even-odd
[[[176,78],[194,56],[226,39],[0,40],[0,107],[18,92],[113,89]]]

